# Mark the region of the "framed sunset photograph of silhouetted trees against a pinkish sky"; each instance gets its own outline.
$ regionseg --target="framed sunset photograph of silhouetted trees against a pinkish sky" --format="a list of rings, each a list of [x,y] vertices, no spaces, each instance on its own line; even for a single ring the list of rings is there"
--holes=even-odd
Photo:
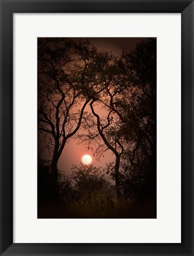
[[[37,218],[157,218],[157,38],[37,38]]]

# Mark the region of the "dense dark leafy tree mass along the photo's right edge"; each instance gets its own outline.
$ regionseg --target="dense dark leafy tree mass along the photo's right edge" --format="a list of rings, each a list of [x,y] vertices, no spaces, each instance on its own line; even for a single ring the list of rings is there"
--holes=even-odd
[[[128,195],[138,198],[156,197],[156,46],[156,39],[147,39],[123,53],[129,86],[116,102],[122,133],[133,145],[124,154],[122,184]]]

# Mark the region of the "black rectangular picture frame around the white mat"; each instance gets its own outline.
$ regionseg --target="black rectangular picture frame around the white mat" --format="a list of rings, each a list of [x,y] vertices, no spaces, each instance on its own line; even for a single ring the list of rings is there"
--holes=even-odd
[[[181,244],[13,244],[13,14],[171,13],[182,16]],[[193,0],[1,0],[1,255],[194,255]],[[167,230],[168,232],[168,230]]]

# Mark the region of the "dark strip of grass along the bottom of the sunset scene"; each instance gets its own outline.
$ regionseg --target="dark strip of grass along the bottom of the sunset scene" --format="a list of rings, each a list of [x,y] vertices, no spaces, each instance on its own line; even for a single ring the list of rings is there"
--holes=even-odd
[[[112,207],[93,204],[39,204],[38,219],[155,219],[156,201],[139,203],[130,201],[118,203]]]

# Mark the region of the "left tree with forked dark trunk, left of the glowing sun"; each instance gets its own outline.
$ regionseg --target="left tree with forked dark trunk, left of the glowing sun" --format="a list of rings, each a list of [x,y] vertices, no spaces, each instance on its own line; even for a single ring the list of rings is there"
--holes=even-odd
[[[68,140],[78,131],[84,109],[96,83],[86,78],[97,50],[90,42],[70,39],[38,39],[39,150],[52,154],[51,175],[58,180],[58,160]],[[94,96],[94,95],[93,95]]]

